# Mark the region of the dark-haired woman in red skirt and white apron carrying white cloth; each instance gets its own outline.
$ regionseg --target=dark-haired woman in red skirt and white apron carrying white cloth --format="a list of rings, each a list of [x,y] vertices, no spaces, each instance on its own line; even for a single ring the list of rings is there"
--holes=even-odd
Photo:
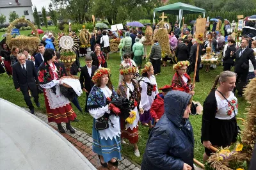
[[[75,130],[71,127],[70,121],[76,118],[68,98],[60,92],[60,78],[65,76],[63,68],[56,62],[56,54],[53,49],[45,49],[44,62],[39,66],[38,80],[44,88],[45,107],[49,122],[56,122],[61,133],[65,130],[61,122],[66,123],[67,130],[72,134]]]

